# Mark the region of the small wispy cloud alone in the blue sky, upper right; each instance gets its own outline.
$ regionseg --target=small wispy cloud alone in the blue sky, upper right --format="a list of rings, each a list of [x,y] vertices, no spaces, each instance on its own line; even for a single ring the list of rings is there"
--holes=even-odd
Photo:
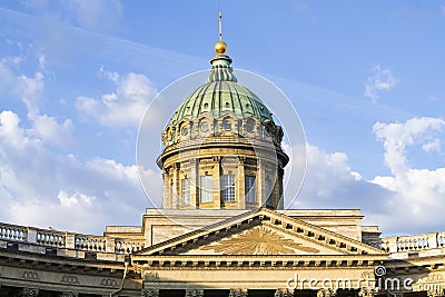
[[[376,102],[382,91],[389,91],[396,83],[397,79],[388,68],[376,65],[373,68],[374,75],[368,77],[365,83],[365,97],[369,97]]]

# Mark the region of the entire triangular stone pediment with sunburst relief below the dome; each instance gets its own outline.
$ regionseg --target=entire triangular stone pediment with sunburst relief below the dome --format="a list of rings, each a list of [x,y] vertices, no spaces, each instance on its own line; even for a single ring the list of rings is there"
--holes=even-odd
[[[384,255],[385,253],[267,208],[157,244],[137,255]]]

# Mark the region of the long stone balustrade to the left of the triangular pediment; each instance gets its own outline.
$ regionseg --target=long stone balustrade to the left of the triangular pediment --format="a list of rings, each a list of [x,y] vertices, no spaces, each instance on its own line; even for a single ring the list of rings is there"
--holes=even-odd
[[[130,254],[145,247],[144,239],[63,232],[0,222],[0,240],[48,248],[66,248],[91,253]]]

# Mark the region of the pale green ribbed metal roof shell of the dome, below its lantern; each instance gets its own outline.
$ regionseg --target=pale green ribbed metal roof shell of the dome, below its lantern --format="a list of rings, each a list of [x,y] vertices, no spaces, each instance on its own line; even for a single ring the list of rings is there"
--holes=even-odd
[[[261,122],[274,121],[267,107],[253,91],[233,80],[216,80],[191,92],[171,117],[170,125],[201,116],[220,118],[227,112],[238,119],[255,117]]]

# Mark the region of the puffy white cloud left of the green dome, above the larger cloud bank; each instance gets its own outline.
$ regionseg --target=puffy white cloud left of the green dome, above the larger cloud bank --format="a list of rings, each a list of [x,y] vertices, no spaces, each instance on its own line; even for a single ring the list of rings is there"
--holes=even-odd
[[[137,127],[155,97],[156,89],[150,80],[139,73],[119,76],[100,69],[100,76],[116,83],[116,90],[105,93],[100,99],[79,96],[76,107],[100,125],[109,127]]]

